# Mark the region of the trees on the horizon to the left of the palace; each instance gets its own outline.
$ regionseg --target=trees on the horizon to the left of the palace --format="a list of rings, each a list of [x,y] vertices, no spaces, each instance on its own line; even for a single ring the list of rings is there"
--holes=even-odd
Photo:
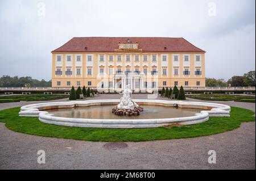
[[[32,79],[32,77],[10,77],[3,75],[0,77],[0,87],[51,87],[52,81],[45,81],[42,79]]]

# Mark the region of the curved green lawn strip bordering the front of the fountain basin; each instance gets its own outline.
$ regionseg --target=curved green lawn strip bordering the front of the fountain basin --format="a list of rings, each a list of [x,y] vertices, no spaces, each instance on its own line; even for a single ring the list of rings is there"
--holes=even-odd
[[[70,138],[88,141],[148,141],[207,136],[240,127],[242,122],[255,121],[254,112],[232,107],[230,117],[210,117],[209,121],[182,127],[107,129],[65,127],[42,123],[38,117],[19,117],[20,108],[0,111],[0,122],[6,127],[21,133],[38,136]]]

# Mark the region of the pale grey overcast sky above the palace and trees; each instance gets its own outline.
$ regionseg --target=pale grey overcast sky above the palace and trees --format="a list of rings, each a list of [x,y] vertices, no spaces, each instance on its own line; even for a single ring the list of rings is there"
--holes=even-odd
[[[184,37],[228,79],[255,70],[255,0],[0,0],[0,76],[51,79],[51,50],[75,36]]]

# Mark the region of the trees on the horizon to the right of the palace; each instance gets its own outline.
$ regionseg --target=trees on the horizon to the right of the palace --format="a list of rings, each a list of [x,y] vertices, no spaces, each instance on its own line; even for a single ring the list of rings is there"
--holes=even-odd
[[[206,78],[206,87],[248,87],[255,86],[255,71],[249,71],[248,73],[241,75],[234,75],[228,81],[223,79]]]

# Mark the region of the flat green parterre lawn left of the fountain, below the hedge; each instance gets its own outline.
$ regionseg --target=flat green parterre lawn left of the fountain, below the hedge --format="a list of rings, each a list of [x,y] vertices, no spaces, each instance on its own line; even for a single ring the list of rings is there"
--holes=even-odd
[[[20,102],[23,101],[37,101],[37,100],[54,100],[68,98],[68,95],[47,95],[47,94],[31,94],[31,95],[10,95],[0,96],[0,103]]]

